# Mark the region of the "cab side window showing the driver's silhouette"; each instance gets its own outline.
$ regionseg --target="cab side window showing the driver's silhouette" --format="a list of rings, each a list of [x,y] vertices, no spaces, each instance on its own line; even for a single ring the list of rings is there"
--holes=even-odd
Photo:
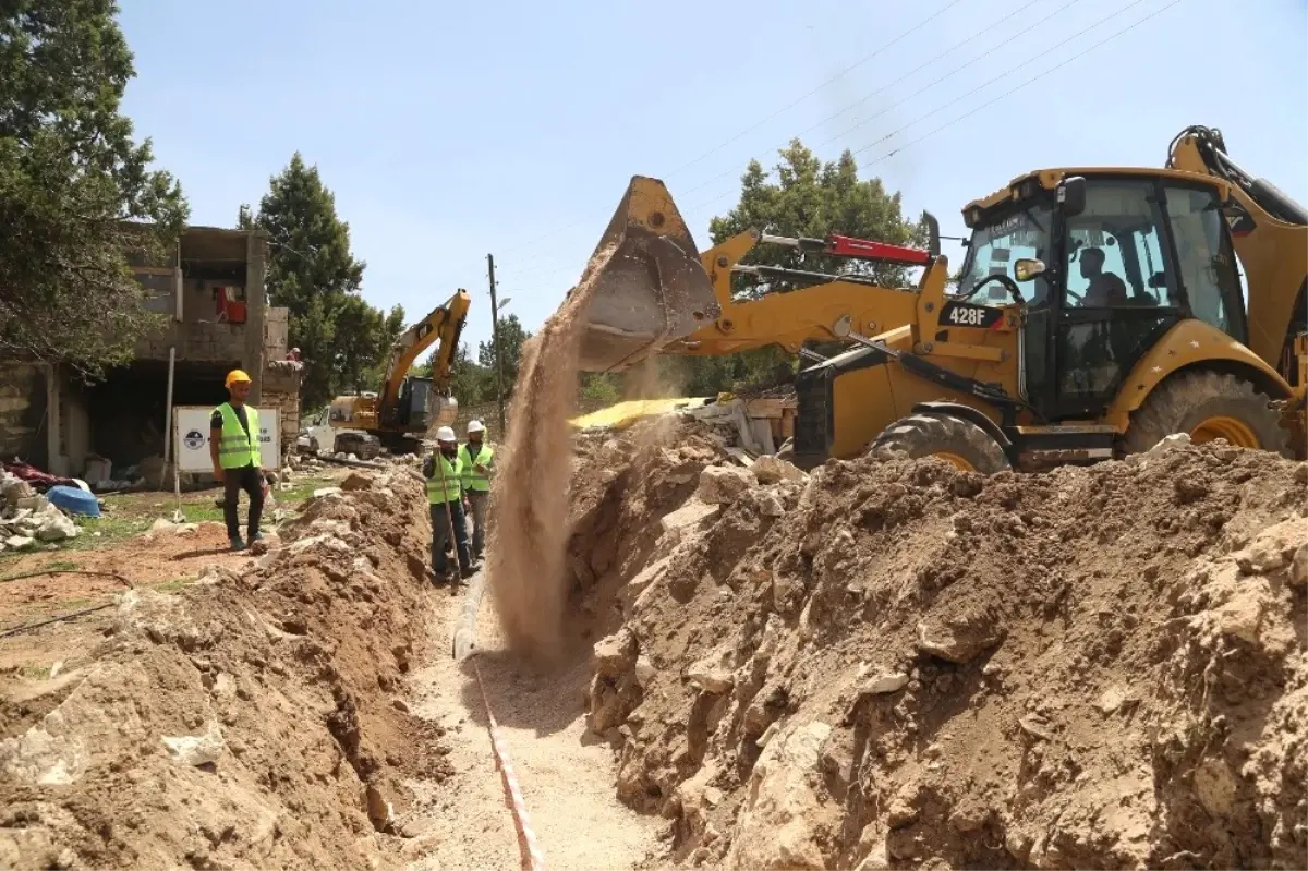
[[[1096,182],[1067,220],[1066,309],[1175,307],[1163,211],[1148,182]]]

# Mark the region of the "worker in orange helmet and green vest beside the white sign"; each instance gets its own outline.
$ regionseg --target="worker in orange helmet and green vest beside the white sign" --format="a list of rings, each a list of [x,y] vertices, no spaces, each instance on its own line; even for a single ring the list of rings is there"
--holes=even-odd
[[[222,518],[233,551],[243,551],[241,517],[237,513],[241,490],[250,496],[250,543],[263,539],[259,515],[263,513],[263,472],[259,468],[259,411],[245,404],[250,395],[250,375],[239,369],[228,373],[228,401],[213,409],[209,418],[209,459],[213,477],[222,483]]]

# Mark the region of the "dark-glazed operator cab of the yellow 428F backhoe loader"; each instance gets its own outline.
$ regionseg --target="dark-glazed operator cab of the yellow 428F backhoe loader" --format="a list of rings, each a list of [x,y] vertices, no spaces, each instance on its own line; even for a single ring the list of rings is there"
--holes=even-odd
[[[1018,282],[1027,303],[1019,388],[1048,421],[1099,417],[1131,367],[1181,319],[1247,343],[1215,187],[1086,173],[1052,190],[1018,190],[1025,196],[973,226],[960,284],[995,268]]]

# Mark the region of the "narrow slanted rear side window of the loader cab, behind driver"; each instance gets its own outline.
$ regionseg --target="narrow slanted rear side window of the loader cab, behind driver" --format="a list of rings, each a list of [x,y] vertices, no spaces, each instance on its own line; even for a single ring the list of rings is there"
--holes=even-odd
[[[1244,341],[1240,275],[1211,190],[1168,186],[1167,214],[1190,314]]]

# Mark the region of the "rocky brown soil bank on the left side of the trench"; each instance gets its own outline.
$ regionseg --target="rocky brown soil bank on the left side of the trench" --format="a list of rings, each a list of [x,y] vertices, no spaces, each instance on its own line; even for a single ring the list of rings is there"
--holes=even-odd
[[[403,777],[443,751],[396,698],[425,609],[420,479],[351,476],[283,547],[128,592],[84,670],[0,706],[0,867],[395,867]]]

